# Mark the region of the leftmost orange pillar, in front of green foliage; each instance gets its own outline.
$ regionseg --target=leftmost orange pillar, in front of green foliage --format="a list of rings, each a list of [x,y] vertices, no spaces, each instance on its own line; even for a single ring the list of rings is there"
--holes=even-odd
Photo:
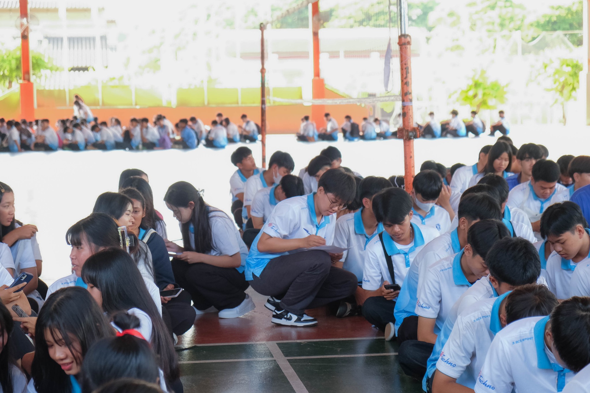
[[[20,0],[21,11],[21,118],[34,120],[34,90],[31,82],[31,54],[29,51],[29,5]]]

